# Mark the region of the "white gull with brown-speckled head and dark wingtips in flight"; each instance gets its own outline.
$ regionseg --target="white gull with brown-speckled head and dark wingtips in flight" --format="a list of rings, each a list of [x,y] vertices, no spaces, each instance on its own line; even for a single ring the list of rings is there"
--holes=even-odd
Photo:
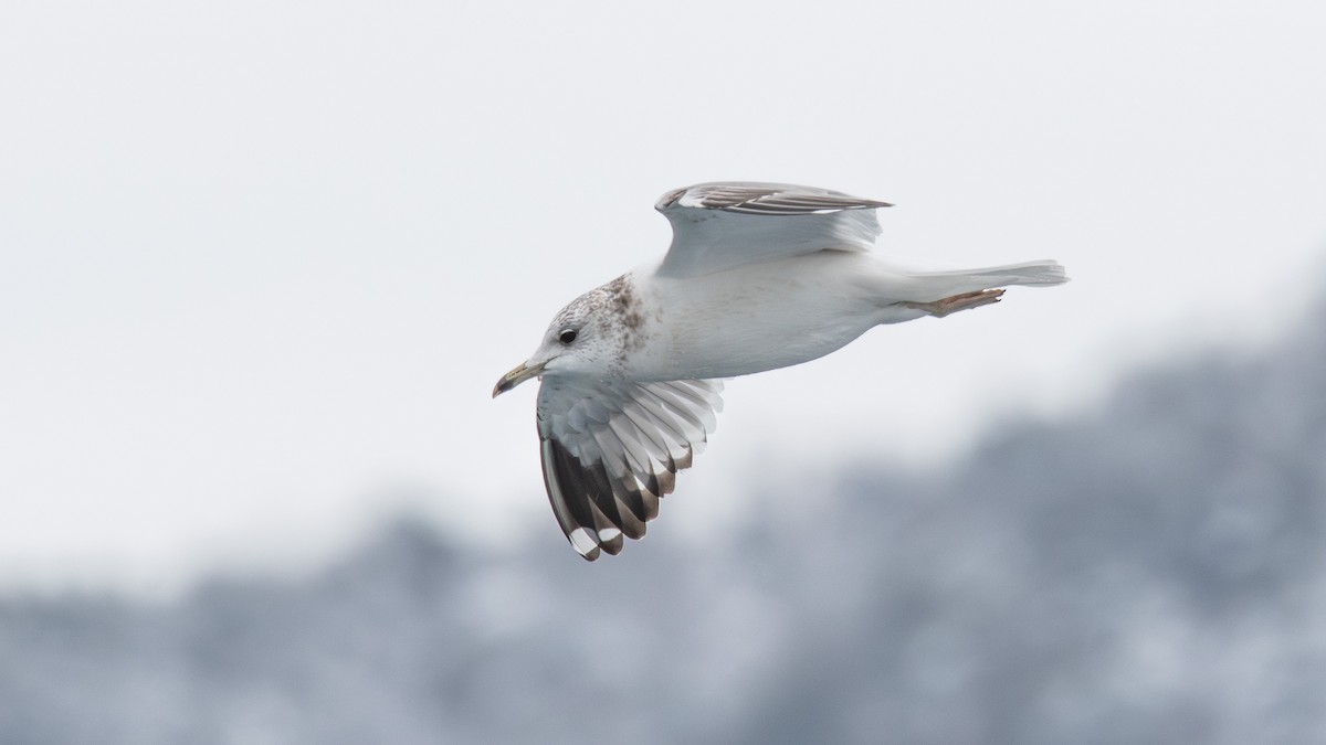
[[[540,378],[544,485],[589,561],[640,538],[723,408],[728,378],[823,357],[882,323],[1000,301],[1008,285],[1058,285],[1050,260],[920,269],[871,253],[891,207],[822,188],[703,183],[654,205],[672,244],[573,300],[493,398]]]

